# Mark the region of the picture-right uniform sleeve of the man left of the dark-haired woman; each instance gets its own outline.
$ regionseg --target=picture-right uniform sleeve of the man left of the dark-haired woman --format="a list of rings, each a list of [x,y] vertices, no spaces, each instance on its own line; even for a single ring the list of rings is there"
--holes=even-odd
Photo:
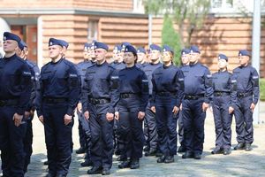
[[[113,69],[110,72],[110,107],[108,112],[114,113],[116,110],[117,102],[119,100],[118,93],[118,71]]]

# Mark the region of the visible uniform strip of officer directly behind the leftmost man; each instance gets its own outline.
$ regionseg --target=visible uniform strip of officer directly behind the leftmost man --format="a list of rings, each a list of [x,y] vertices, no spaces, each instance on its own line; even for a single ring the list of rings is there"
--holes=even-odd
[[[28,59],[25,60],[27,65],[29,66],[29,69],[32,73],[32,90],[31,90],[31,96],[30,101],[27,105],[27,112],[30,112],[29,117],[27,118],[27,132],[26,136],[24,138],[24,150],[26,153],[25,158],[25,165],[24,165],[24,171],[27,172],[27,166],[30,164],[30,157],[32,155],[33,149],[32,149],[32,143],[33,143],[33,129],[32,129],[32,120],[34,119],[34,104],[36,99],[36,93],[37,90],[40,89],[40,69],[38,65],[34,64],[33,62],[29,61]]]

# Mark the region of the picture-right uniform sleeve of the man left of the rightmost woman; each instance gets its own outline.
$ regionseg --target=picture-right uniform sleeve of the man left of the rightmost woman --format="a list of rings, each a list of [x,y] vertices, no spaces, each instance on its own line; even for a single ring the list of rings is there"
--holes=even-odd
[[[213,89],[213,78],[208,69],[204,73],[204,86],[205,86],[204,102],[206,104],[209,104],[213,98],[214,89]]]

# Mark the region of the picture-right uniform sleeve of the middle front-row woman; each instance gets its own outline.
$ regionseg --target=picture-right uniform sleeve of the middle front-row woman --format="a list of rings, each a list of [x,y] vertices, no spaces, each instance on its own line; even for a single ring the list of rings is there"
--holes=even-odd
[[[178,69],[178,72],[176,73],[175,81],[177,83],[176,84],[177,97],[176,97],[176,104],[175,105],[177,105],[177,107],[179,107],[181,104],[181,100],[184,96],[184,74],[180,69]]]

